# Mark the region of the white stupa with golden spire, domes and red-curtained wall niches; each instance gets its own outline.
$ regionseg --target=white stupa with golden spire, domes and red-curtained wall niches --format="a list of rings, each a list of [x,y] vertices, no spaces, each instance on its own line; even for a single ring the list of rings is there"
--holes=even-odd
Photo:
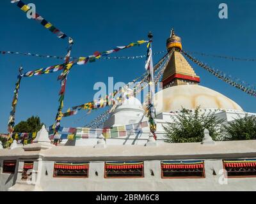
[[[77,135],[87,138],[54,146],[43,127],[31,145],[0,148],[0,191],[256,191],[255,140],[216,142],[205,129],[202,142],[164,142],[163,125],[182,108],[214,110],[225,122],[246,114],[232,99],[198,85],[173,30],[166,45],[174,52],[154,98],[157,140],[141,101],[130,97],[104,123],[114,130],[111,138],[88,138],[91,130],[81,128]]]

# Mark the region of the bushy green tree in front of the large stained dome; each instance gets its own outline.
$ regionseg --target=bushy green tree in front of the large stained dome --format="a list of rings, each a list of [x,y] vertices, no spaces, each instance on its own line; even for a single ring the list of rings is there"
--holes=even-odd
[[[173,122],[163,126],[166,133],[166,142],[185,143],[202,142],[204,129],[209,130],[213,140],[220,140],[220,124],[223,119],[218,119],[215,112],[200,112],[200,106],[195,111],[182,109],[177,115],[173,115]]]

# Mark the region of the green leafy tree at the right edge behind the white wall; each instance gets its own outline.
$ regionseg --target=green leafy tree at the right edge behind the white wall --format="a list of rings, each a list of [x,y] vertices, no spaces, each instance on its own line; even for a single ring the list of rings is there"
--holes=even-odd
[[[223,125],[224,140],[255,140],[256,139],[256,117],[239,117],[234,121]]]

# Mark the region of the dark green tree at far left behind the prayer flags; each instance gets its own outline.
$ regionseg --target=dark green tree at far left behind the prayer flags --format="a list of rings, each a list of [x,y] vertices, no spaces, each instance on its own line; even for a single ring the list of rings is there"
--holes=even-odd
[[[14,127],[15,133],[33,133],[38,132],[42,128],[43,123],[41,123],[38,116],[29,117],[26,121],[21,121]]]

